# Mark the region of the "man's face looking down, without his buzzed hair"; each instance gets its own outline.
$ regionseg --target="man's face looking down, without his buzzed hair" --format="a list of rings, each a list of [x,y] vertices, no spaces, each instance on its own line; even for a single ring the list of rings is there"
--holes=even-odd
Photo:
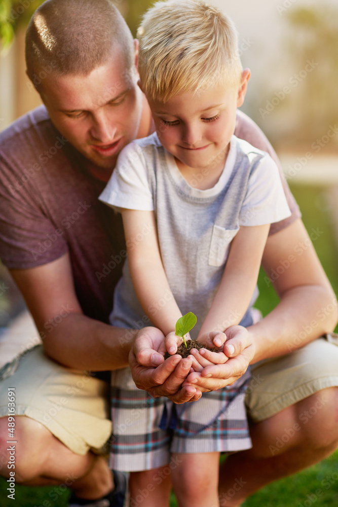
[[[142,93],[121,50],[89,75],[49,75],[42,99],[59,132],[110,175],[119,152],[138,134]]]

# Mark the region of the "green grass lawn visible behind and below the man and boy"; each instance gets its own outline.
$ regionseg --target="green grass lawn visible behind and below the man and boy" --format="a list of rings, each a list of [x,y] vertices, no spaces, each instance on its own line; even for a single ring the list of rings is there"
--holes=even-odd
[[[338,251],[333,233],[332,217],[326,209],[325,188],[293,186],[292,192],[301,207],[303,221],[309,232],[319,229],[320,236],[314,242],[315,249],[324,270],[338,293]],[[264,281],[265,274],[260,273],[260,296],[257,307],[263,314],[272,310],[278,298],[272,287]],[[245,502],[245,507],[326,507],[338,505],[338,451],[332,456],[303,472],[282,479],[263,488]],[[66,507],[68,492],[58,496],[54,488],[28,488],[16,486],[15,501],[7,498],[7,483],[0,480],[1,507]],[[54,500],[54,498],[57,498]],[[170,506],[176,507],[172,495]],[[146,507],[144,505],[144,507]],[[207,506],[206,506],[207,507]]]

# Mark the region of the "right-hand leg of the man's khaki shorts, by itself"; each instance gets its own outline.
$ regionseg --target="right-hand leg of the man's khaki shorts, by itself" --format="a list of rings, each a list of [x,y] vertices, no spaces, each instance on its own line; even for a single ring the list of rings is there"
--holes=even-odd
[[[290,354],[251,366],[247,412],[253,421],[262,421],[333,386],[338,386],[338,335],[331,334]]]

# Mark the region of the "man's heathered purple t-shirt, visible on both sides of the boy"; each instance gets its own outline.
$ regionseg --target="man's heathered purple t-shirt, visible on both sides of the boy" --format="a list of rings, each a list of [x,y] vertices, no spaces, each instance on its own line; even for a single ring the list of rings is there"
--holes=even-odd
[[[235,135],[279,165],[264,134],[240,112]],[[271,234],[300,216],[282,179],[292,215],[273,224]],[[68,251],[84,313],[108,322],[126,249],[121,215],[98,200],[104,187],[44,106],[0,133],[0,258],[9,269],[29,269]]]

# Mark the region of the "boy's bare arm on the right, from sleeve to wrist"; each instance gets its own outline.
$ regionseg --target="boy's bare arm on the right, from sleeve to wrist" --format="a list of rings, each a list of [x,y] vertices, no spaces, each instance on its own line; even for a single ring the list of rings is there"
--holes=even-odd
[[[241,227],[232,241],[229,258],[199,339],[210,331],[225,331],[245,314],[255,285],[270,224]],[[233,318],[230,319],[230,316]]]

